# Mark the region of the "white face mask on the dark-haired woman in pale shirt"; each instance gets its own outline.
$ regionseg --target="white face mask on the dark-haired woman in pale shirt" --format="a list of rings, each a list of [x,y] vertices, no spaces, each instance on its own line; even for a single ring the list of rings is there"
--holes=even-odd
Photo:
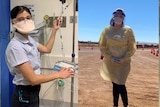
[[[13,25],[20,33],[28,34],[35,29],[33,20],[23,20]]]

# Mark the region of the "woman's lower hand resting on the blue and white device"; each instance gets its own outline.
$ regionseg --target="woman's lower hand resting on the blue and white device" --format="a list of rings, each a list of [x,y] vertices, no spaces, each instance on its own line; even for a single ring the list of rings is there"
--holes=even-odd
[[[58,72],[58,76],[59,76],[60,79],[73,77],[74,74],[75,74],[75,71],[72,68],[62,68]]]

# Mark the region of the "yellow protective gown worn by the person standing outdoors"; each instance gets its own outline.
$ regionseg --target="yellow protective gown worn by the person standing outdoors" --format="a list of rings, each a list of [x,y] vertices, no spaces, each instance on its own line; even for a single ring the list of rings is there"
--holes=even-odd
[[[110,80],[119,85],[124,85],[130,72],[131,56],[136,51],[135,36],[130,27],[120,29],[108,26],[99,39],[99,48],[104,55],[100,68],[100,75],[104,80]],[[111,56],[121,58],[120,64],[111,60]]]

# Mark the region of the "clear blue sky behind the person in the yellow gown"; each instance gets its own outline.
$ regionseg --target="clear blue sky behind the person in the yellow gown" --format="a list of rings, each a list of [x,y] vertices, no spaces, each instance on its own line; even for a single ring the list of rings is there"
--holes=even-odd
[[[138,42],[159,43],[158,0],[79,0],[78,40],[98,42],[116,8],[123,8],[125,25]]]

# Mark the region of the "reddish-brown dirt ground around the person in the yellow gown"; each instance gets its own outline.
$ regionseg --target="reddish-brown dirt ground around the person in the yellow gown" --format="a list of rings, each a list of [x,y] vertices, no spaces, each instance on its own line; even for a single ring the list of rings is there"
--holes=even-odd
[[[80,47],[78,54],[78,107],[113,107],[112,84],[99,75],[98,48]],[[137,49],[126,82],[130,107],[158,107],[158,64],[150,49]],[[123,107],[121,98],[119,107]]]

